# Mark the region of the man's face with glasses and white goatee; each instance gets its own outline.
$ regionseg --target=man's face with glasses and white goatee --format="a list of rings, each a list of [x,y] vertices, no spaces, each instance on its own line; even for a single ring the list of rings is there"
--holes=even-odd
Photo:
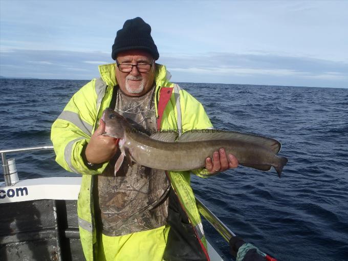
[[[141,64],[151,63],[153,57],[142,50],[129,50],[120,52],[117,55],[119,64]],[[128,96],[141,96],[147,93],[153,86],[155,79],[155,64],[151,67],[149,72],[139,72],[134,66],[132,71],[124,73],[116,67],[116,79],[121,91]]]

